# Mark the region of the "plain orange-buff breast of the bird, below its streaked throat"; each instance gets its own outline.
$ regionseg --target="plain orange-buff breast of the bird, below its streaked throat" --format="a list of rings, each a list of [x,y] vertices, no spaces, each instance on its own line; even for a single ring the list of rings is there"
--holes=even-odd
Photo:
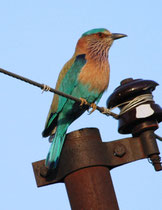
[[[109,83],[109,63],[88,62],[82,68],[79,76],[79,82],[88,85],[89,90],[102,93],[108,87]]]

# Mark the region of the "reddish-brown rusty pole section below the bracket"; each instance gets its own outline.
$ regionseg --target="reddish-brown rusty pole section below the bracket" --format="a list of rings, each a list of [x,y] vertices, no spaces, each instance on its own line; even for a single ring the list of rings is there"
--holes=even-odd
[[[108,168],[80,169],[65,177],[64,182],[72,210],[119,210]]]

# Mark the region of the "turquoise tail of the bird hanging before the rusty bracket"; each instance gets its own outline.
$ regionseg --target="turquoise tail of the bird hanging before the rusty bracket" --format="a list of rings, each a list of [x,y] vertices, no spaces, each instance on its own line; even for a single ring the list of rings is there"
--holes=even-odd
[[[54,139],[52,141],[50,150],[46,158],[46,162],[45,162],[46,167],[50,169],[55,169],[57,167],[57,163],[59,161],[62,147],[64,144],[65,136],[66,136],[66,131],[61,134],[57,133],[56,131],[56,134],[54,136]]]

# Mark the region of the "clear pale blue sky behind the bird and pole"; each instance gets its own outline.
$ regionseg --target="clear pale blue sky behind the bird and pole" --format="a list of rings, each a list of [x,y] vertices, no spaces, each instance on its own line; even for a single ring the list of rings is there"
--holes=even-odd
[[[110,84],[99,105],[120,81],[150,79],[160,85],[153,92],[162,106],[162,2],[143,1],[0,1],[0,67],[55,86],[60,69],[72,56],[85,31],[104,27],[128,34],[110,49]],[[0,186],[3,210],[68,210],[64,184],[37,188],[31,163],[49,149],[41,137],[52,100],[51,93],[0,74]],[[97,127],[103,141],[125,138],[118,122],[97,111],[85,113],[68,132]],[[156,131],[162,136],[162,128]],[[162,143],[159,149],[162,152]],[[160,210],[162,173],[140,160],[111,171],[120,210]]]

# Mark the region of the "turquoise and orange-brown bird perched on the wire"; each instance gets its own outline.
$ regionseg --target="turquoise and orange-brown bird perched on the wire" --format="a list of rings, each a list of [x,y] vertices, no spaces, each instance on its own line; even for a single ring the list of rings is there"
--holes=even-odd
[[[114,40],[126,36],[111,33],[105,28],[95,28],[83,33],[78,40],[72,58],[59,74],[56,89],[80,98],[82,103],[79,105],[66,97],[54,94],[42,132],[42,136],[49,136],[52,142],[45,160],[48,169],[57,168],[67,129],[87,110],[84,104],[90,103],[94,107],[108,88],[109,49]]]

